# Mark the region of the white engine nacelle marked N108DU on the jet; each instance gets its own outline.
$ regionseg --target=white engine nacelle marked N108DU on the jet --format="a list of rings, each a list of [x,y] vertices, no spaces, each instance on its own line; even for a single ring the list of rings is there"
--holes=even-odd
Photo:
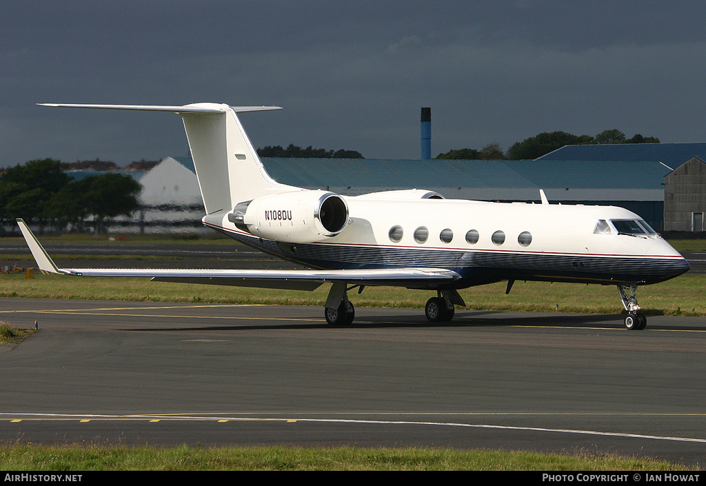
[[[228,220],[261,238],[312,243],[342,232],[348,224],[348,206],[333,192],[293,191],[239,203]]]

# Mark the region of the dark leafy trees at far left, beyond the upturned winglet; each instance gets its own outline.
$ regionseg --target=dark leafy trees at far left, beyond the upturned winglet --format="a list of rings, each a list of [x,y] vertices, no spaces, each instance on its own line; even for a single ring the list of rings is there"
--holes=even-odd
[[[139,208],[142,186],[132,177],[106,172],[73,179],[66,164],[52,158],[30,160],[0,174],[0,219],[23,218],[40,232],[92,227],[105,232],[107,218],[131,215]]]

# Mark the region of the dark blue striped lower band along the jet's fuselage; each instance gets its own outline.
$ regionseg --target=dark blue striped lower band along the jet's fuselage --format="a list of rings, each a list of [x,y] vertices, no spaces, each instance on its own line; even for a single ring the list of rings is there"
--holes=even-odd
[[[225,228],[213,229],[265,253],[311,268],[448,268],[462,275],[462,279],[453,285],[456,288],[508,279],[614,285],[650,284],[669,280],[690,268],[686,259],[678,256],[604,256],[330,243],[285,244]]]

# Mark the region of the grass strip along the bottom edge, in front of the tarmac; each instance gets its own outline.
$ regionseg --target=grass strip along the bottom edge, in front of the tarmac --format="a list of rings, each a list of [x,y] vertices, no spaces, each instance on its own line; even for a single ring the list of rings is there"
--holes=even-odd
[[[358,447],[0,446],[0,470],[690,470],[650,458]],[[693,469],[692,469],[693,470]]]

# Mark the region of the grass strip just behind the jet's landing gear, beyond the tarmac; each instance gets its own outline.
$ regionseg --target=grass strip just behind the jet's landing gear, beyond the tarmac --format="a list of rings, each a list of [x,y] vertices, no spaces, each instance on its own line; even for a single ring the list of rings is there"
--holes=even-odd
[[[510,295],[505,283],[461,290],[468,309],[560,311],[618,314],[623,311],[613,285],[516,282]],[[71,277],[35,273],[0,275],[0,297],[85,300],[137,300],[154,302],[213,302],[222,304],[323,305],[330,285],[313,292],[270,290],[221,285],[150,282],[147,278]],[[424,307],[429,290],[366,287],[349,292],[357,307]],[[646,314],[706,316],[706,275],[681,275],[664,283],[645,285],[638,300]],[[692,310],[693,309],[693,310]]]

